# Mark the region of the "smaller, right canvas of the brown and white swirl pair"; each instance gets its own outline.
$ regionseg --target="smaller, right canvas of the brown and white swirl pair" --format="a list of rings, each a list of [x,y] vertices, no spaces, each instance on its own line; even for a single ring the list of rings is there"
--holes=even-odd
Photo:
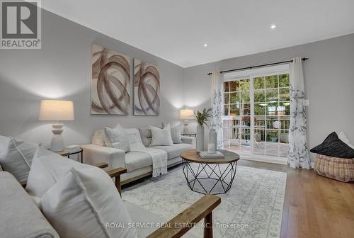
[[[157,67],[134,59],[134,115],[159,115],[159,91]]]

